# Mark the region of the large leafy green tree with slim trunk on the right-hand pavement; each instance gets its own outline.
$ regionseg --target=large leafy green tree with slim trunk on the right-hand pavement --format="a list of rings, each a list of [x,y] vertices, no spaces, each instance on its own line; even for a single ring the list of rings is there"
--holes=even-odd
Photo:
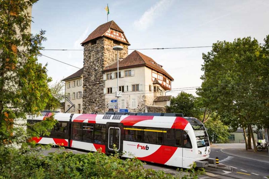
[[[252,125],[268,118],[269,66],[261,46],[250,37],[218,41],[203,59],[203,82],[197,94],[223,115],[224,124],[248,128],[256,152]]]

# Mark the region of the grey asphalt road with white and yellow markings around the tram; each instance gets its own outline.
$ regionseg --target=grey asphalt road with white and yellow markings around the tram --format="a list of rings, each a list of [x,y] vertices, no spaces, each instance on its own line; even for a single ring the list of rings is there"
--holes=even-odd
[[[258,161],[253,161],[249,159],[239,158],[227,155],[221,152],[222,148],[227,147],[238,147],[238,144],[220,144],[217,146],[211,146],[210,158],[218,157],[221,164],[230,165],[233,169],[232,172],[225,171],[221,169],[213,169],[210,167],[206,168],[206,172],[204,175],[200,175],[200,179],[245,179],[245,178],[253,178],[253,179],[266,179],[269,176],[269,163],[262,163]],[[87,153],[86,151],[76,150],[76,149],[65,149],[66,151],[72,151],[73,153]],[[51,148],[49,151],[44,151],[44,155],[48,155],[50,152],[59,151],[57,148]],[[144,168],[152,168],[154,170],[163,170],[166,173],[170,173],[172,175],[177,174],[175,167],[159,165],[155,163],[146,163]]]

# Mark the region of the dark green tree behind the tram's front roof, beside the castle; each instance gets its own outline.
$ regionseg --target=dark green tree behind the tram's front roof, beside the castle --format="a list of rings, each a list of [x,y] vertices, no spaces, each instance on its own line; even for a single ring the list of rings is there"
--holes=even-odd
[[[185,116],[200,119],[203,112],[200,110],[197,97],[192,94],[181,92],[170,100],[170,106],[167,107],[168,112],[183,113]]]

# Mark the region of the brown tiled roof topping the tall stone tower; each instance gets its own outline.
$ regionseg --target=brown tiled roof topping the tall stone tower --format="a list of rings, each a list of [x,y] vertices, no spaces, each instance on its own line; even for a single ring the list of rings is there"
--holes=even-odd
[[[98,26],[83,42],[81,42],[81,45],[83,46],[83,44],[85,44],[86,42],[88,42],[90,40],[93,40],[95,38],[104,36],[105,33],[109,30],[109,28],[117,30],[117,31],[123,33],[123,36],[126,39],[126,41],[121,41],[121,40],[118,40],[118,41],[121,41],[123,43],[127,42],[127,44],[129,44],[127,38],[124,35],[123,30],[121,30],[121,28],[116,24],[116,22],[109,21],[109,22],[107,22],[105,24],[102,24],[102,25]]]

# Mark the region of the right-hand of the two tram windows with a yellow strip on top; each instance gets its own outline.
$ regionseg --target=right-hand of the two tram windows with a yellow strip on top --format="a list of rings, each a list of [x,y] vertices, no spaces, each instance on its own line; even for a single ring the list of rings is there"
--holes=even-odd
[[[144,142],[146,143],[163,143],[163,129],[144,129]]]

